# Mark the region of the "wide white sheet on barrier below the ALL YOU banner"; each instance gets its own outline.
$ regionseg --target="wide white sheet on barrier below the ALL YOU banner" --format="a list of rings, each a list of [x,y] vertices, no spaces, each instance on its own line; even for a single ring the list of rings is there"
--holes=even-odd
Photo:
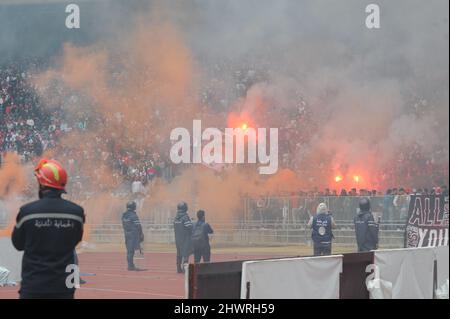
[[[391,285],[392,291],[380,296],[380,291],[370,291],[371,298],[432,299],[434,248],[409,248],[377,250],[374,252],[378,266],[381,290]]]

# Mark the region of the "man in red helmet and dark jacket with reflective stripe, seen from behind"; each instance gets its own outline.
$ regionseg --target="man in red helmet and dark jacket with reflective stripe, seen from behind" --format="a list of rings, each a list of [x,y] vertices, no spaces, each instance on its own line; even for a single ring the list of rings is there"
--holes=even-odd
[[[39,200],[20,208],[12,243],[24,251],[20,298],[72,299],[66,272],[75,264],[74,250],[83,236],[83,208],[61,197],[67,172],[55,160],[43,159],[34,170]]]

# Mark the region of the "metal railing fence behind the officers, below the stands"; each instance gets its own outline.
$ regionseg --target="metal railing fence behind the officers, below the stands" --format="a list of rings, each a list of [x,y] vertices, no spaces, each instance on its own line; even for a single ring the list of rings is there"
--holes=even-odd
[[[292,245],[310,244],[311,230],[308,220],[315,214],[319,203],[325,202],[332,213],[337,228],[333,231],[334,243],[355,245],[353,218],[358,213],[360,197],[244,197],[243,205],[233,220],[213,219],[212,243],[214,245]],[[380,245],[403,247],[405,207],[393,205],[383,196],[370,197],[372,211],[380,218]],[[387,203],[387,204],[386,204]],[[144,205],[145,206],[145,205]],[[141,212],[141,210],[139,210]],[[406,210],[407,213],[407,210]],[[171,207],[147,207],[142,210],[142,227],[148,243],[174,243]],[[122,224],[118,215],[101,224],[88,224],[89,238],[99,243],[122,243]],[[89,222],[89,221],[88,221]],[[2,221],[0,220],[0,229]],[[3,226],[5,227],[5,225]]]

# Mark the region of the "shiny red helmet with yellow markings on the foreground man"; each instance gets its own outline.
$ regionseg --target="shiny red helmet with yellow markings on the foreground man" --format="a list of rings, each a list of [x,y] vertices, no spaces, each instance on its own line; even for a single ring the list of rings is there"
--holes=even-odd
[[[64,190],[67,184],[67,172],[55,160],[41,159],[34,169],[39,185]]]

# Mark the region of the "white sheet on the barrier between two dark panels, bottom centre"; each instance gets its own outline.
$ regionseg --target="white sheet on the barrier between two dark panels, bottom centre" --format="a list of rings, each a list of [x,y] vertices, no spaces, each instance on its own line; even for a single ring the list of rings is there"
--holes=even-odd
[[[248,261],[242,264],[241,298],[337,299],[342,255]]]

